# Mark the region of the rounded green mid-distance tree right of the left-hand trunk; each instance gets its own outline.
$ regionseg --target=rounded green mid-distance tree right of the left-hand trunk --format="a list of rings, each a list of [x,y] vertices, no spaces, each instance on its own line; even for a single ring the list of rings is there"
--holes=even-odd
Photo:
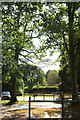
[[[43,85],[45,75],[37,66],[30,64],[21,65],[21,71],[23,73],[24,85],[28,87],[30,92],[32,92],[34,86]]]

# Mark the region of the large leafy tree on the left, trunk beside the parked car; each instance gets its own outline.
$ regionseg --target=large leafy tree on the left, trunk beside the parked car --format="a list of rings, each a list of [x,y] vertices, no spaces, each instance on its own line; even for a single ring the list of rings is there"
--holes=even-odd
[[[3,71],[3,78],[6,76],[7,81],[11,80],[11,103],[17,101],[16,83],[21,75],[19,64],[24,62],[21,56],[32,62],[32,56],[36,55],[32,42],[36,10],[36,3],[2,3],[3,66],[7,68]]]

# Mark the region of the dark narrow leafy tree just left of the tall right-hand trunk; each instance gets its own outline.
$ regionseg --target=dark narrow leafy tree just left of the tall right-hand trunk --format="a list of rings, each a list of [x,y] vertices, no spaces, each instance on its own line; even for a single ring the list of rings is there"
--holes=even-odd
[[[71,75],[70,75],[70,65],[68,54],[66,54],[66,49],[61,48],[61,59],[60,59],[60,70],[59,77],[61,80],[60,91],[70,92],[71,91]]]

